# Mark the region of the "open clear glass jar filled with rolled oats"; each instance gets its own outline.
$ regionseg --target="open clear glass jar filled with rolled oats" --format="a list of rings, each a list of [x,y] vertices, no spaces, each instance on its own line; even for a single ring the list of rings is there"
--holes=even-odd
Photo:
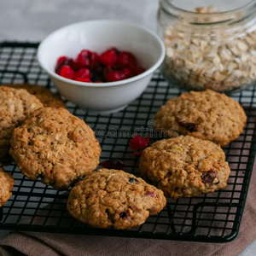
[[[160,0],[158,25],[170,84],[228,92],[256,83],[255,0]]]

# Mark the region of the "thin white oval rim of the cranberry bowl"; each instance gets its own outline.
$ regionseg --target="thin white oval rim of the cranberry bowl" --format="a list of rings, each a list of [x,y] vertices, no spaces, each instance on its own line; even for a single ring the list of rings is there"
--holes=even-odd
[[[159,56],[158,60],[155,61],[154,65],[152,67],[149,67],[145,72],[143,72],[143,73],[141,73],[141,74],[139,74],[135,77],[132,77],[130,79],[124,79],[124,80],[116,81],[116,82],[105,82],[105,83],[87,83],[87,82],[79,82],[79,81],[72,80],[72,79],[66,79],[66,78],[61,77],[57,73],[51,71],[48,67],[44,66],[44,64],[40,60],[40,55],[41,55],[40,52],[41,52],[41,49],[44,47],[44,44],[46,44],[45,42],[49,38],[53,37],[55,35],[55,33],[60,32],[61,30],[67,29],[68,27],[77,26],[77,25],[80,25],[80,24],[83,24],[83,23],[90,23],[90,22],[91,23],[94,23],[94,22],[116,23],[116,22],[118,22],[118,23],[122,23],[123,25],[134,26],[134,27],[137,27],[137,28],[139,28],[139,29],[141,29],[145,32],[148,32],[152,37],[154,37],[157,40],[157,42],[160,45],[160,56]],[[110,86],[118,86],[118,85],[122,85],[122,84],[130,84],[130,83],[132,83],[134,81],[137,81],[139,79],[143,79],[143,78],[147,77],[149,74],[153,73],[158,67],[160,67],[162,61],[164,61],[165,55],[166,55],[166,48],[165,48],[165,44],[163,43],[163,41],[160,39],[160,37],[155,32],[151,31],[150,29],[148,29],[145,26],[137,25],[136,23],[132,23],[132,22],[129,22],[129,21],[123,21],[123,20],[84,20],[84,21],[79,21],[79,22],[76,22],[76,23],[69,24],[67,26],[62,26],[61,28],[55,30],[54,32],[51,32],[38,45],[37,59],[38,59],[38,63],[40,65],[40,67],[42,67],[46,73],[48,73],[50,76],[54,77],[55,79],[59,79],[62,82],[66,82],[66,83],[74,84],[74,85],[79,85],[79,86],[82,86],[82,87],[83,86],[84,87],[91,87],[92,85],[95,85],[98,88],[98,87],[110,87]]]

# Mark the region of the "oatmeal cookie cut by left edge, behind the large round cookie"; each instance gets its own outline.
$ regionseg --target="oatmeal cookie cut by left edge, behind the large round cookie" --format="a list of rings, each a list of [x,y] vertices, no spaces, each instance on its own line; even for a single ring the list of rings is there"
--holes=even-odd
[[[37,97],[26,90],[0,86],[0,160],[9,160],[9,139],[15,127],[37,108],[43,108]]]

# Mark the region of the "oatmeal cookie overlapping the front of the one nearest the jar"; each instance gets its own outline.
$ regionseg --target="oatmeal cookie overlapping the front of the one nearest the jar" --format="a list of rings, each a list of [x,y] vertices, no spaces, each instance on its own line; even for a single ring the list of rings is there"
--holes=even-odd
[[[173,198],[223,189],[230,176],[222,148],[190,136],[153,143],[143,150],[139,171],[142,177]]]

